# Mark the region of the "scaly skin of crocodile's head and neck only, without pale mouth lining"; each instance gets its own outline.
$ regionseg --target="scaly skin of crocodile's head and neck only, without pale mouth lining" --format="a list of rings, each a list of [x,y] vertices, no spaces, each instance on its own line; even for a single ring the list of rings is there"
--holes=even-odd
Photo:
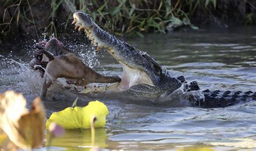
[[[144,71],[151,79],[153,85],[138,84],[130,87],[131,93],[139,97],[158,97],[170,95],[180,88],[181,82],[163,71],[152,57],[125,41],[118,40],[113,35],[103,31],[89,15],[78,12],[73,15],[76,26],[84,29],[89,39],[104,47],[118,62],[132,68]]]

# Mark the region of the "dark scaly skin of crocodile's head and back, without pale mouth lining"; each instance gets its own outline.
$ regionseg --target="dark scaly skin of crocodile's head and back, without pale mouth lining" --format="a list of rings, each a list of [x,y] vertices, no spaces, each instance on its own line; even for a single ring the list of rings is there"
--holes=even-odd
[[[74,13],[75,28],[85,30],[87,37],[92,41],[93,45],[105,48],[124,68],[136,69],[145,73],[145,78],[149,78],[149,83],[136,83],[129,86],[123,92],[147,98],[166,97],[173,91],[181,87],[185,83],[185,78],[178,79],[171,77],[166,70],[163,70],[152,57],[145,52],[139,51],[137,48],[125,41],[121,41],[113,35],[105,32],[100,28],[89,15],[82,12]],[[196,82],[185,84],[184,91],[197,91],[199,87]],[[225,107],[240,102],[240,100],[252,100],[256,98],[256,94],[248,91],[246,95],[224,95],[226,92],[219,91],[203,91],[204,98],[197,98],[191,95],[188,99],[191,105],[204,107]]]

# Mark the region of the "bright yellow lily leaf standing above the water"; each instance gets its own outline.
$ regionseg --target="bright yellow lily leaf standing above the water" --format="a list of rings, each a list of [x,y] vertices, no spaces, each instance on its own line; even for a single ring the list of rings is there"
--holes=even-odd
[[[98,100],[90,102],[85,107],[68,107],[60,112],[52,113],[46,121],[46,128],[49,128],[53,121],[66,129],[90,128],[91,117],[95,116],[95,127],[103,127],[106,124],[106,115],[109,114],[106,105]]]

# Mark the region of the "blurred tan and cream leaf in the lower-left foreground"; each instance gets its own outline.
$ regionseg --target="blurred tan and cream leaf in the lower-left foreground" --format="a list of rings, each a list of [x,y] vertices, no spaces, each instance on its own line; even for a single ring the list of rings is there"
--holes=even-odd
[[[44,120],[44,105],[39,98],[33,101],[29,111],[22,94],[6,91],[0,95],[0,128],[15,146],[22,149],[42,147]]]

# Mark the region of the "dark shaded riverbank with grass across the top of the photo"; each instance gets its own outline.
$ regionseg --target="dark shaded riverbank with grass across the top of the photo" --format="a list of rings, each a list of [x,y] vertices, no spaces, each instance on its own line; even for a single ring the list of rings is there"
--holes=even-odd
[[[115,34],[172,32],[180,28],[228,28],[255,25],[254,1],[69,1],[30,0],[0,2],[1,41],[14,37],[39,38],[72,34],[72,14],[89,13],[96,23]],[[0,41],[0,42],[1,42]],[[0,43],[1,44],[1,43]]]

